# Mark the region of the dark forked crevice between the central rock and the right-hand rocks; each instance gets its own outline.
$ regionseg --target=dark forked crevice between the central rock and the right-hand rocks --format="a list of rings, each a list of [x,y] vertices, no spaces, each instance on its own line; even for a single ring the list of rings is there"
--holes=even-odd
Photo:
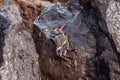
[[[89,6],[88,6],[89,4]],[[88,25],[91,32],[94,34],[95,38],[96,38],[96,55],[95,58],[97,59],[95,61],[95,65],[96,65],[96,72],[98,75],[98,78],[100,80],[110,80],[110,69],[109,69],[109,64],[105,62],[104,58],[101,59],[101,54],[104,51],[104,45],[102,45],[101,39],[104,39],[105,37],[108,38],[111,47],[114,51],[114,53],[116,53],[117,55],[117,62],[120,62],[120,53],[117,51],[116,45],[114,40],[112,39],[112,35],[109,34],[108,30],[104,31],[102,29],[103,26],[100,26],[100,24],[103,24],[105,26],[105,28],[107,29],[107,24],[105,22],[104,19],[102,19],[101,17],[101,13],[100,10],[98,8],[94,8],[90,5],[90,1],[88,1],[88,3],[86,4],[87,6],[85,6],[86,8],[86,14],[87,16],[90,16],[90,20],[93,19],[93,23],[88,22]],[[89,18],[87,19],[89,20]],[[103,21],[104,23],[99,23],[100,21]],[[95,27],[93,27],[95,26]],[[103,76],[104,75],[104,76]],[[101,78],[103,77],[103,78]]]

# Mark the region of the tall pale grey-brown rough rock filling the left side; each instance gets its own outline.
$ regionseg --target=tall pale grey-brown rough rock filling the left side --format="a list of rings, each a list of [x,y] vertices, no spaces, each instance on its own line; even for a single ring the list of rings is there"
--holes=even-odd
[[[15,5],[0,7],[0,80],[39,80],[38,54]]]

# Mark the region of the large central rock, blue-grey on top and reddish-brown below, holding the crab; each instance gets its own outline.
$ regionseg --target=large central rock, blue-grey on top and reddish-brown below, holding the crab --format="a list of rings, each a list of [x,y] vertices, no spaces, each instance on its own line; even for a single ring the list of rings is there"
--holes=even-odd
[[[38,36],[34,36],[34,41],[40,55],[42,79],[79,80],[88,78],[86,75],[92,68],[89,64],[96,53],[96,39],[86,23],[82,23],[84,17],[79,8],[80,5],[76,5],[76,3],[73,3],[72,9],[65,5],[51,6],[44,9],[39,18],[35,20],[34,24],[38,26],[35,27],[35,35]],[[56,55],[55,44],[49,40],[51,29],[57,27],[59,22],[62,25],[65,23],[66,27],[63,31],[68,36],[70,48],[79,49],[77,53],[68,52],[71,57],[76,57],[68,62]],[[44,29],[48,29],[48,31],[44,32]],[[42,35],[39,36],[39,34]],[[93,65],[91,63],[91,66]],[[94,70],[95,68],[93,68]],[[92,75],[95,73],[93,72]]]

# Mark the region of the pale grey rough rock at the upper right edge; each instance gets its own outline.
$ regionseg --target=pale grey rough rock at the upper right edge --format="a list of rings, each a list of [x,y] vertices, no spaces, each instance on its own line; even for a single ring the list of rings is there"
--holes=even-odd
[[[120,52],[120,1],[111,0],[106,11],[106,21],[108,30]]]

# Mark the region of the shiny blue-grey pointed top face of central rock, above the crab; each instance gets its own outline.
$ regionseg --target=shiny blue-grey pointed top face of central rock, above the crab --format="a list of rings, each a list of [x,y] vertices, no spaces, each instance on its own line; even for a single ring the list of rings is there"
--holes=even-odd
[[[55,5],[44,9],[39,18],[34,21],[34,25],[39,26],[40,30],[49,39],[50,31],[57,27],[59,22],[64,24],[72,18],[73,14],[66,8],[64,5]],[[45,31],[45,29],[48,29],[48,31]]]

